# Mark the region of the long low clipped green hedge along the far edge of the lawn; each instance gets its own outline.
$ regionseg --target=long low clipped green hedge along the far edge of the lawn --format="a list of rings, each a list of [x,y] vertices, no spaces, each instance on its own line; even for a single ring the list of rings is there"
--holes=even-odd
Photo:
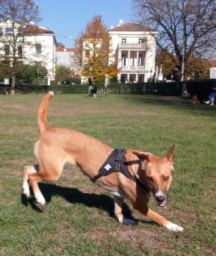
[[[95,84],[98,87],[98,93],[105,93],[103,84]],[[44,94],[48,91],[53,91],[56,94],[87,94],[88,85],[58,85],[58,86],[30,86],[17,85],[15,86],[15,94]],[[0,86],[0,93],[10,93],[9,86]],[[153,94],[175,96],[181,94],[181,84],[178,82],[172,83],[138,83],[138,84],[119,84],[111,83],[109,86],[111,94]]]

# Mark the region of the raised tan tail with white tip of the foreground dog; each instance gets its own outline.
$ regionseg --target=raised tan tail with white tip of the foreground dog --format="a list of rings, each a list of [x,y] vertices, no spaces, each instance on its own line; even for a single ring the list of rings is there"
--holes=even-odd
[[[53,94],[54,93],[52,91],[45,94],[44,98],[42,98],[40,103],[40,107],[37,115],[37,124],[39,127],[40,134],[42,134],[48,128],[46,123],[47,109]]]

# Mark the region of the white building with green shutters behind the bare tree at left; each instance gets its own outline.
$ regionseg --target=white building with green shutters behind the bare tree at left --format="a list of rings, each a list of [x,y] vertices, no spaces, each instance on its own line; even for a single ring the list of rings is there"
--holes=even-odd
[[[20,29],[22,28],[22,29]],[[48,70],[47,77],[54,80],[56,58],[56,39],[54,32],[47,27],[38,27],[32,24],[28,26],[15,23],[12,26],[10,20],[0,22],[0,59],[12,60],[14,43],[16,59],[24,64],[41,64]]]

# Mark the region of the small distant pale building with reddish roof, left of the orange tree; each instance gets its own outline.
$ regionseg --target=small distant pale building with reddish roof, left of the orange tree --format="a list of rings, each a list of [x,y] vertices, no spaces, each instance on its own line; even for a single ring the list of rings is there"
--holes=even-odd
[[[57,64],[71,67],[73,64],[72,56],[75,53],[75,48],[57,47]]]

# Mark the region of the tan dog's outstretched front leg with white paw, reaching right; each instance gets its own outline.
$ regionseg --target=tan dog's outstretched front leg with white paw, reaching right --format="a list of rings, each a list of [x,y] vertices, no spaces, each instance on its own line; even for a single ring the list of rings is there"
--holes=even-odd
[[[149,217],[150,219],[156,221],[162,226],[165,226],[165,228],[171,230],[171,231],[183,231],[183,228],[180,226],[171,223],[170,221],[166,220],[161,215],[156,214],[156,212],[153,212],[148,207],[140,207],[140,205],[134,204],[134,208],[144,214],[145,216]]]

